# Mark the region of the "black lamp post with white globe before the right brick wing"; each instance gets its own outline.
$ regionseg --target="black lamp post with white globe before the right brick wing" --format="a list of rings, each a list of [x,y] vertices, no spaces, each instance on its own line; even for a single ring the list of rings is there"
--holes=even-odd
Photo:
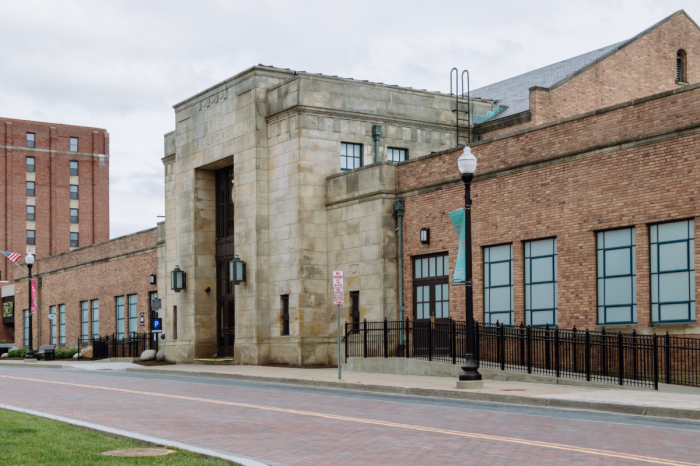
[[[474,296],[472,286],[472,199],[470,186],[476,171],[476,157],[469,146],[464,148],[464,153],[457,160],[459,172],[464,182],[464,283],[466,285],[466,318],[467,318],[467,352],[462,364],[462,373],[459,374],[461,382],[481,380],[479,364],[474,357]]]

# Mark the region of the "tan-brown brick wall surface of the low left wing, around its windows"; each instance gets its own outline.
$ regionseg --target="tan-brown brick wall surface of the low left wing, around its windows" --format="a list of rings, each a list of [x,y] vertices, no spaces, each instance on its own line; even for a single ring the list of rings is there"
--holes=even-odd
[[[41,309],[41,343],[34,318],[35,345],[49,344],[50,321],[46,318],[50,306],[66,305],[66,345],[74,347],[81,331],[81,301],[98,299],[100,302],[100,335],[116,331],[116,297],[124,296],[126,332],[128,328],[128,295],[137,295],[137,317],[144,313],[144,325],[135,331],[150,329],[149,292],[157,285],[149,284],[149,276],[157,273],[156,229],[123,236],[111,241],[77,249],[72,252],[37,260],[33,272],[41,279],[39,306]],[[27,309],[27,280],[15,274],[16,309]],[[22,320],[15,322],[15,344],[23,342]],[[58,336],[58,330],[57,330]]]

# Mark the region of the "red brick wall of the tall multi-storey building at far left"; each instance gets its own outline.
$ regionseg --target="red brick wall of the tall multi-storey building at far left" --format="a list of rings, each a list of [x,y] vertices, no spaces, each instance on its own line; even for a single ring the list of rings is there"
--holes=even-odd
[[[35,148],[26,147],[34,133]],[[70,152],[70,138],[78,151]],[[69,162],[79,164],[79,245],[109,239],[109,135],[104,129],[2,119],[0,124],[0,249],[24,254],[27,157],[34,157],[36,256],[70,249]],[[3,277],[10,264],[0,263]]]

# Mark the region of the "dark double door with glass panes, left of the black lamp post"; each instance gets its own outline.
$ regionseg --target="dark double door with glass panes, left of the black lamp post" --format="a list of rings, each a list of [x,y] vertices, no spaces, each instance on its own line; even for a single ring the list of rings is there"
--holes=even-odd
[[[435,357],[450,352],[449,258],[445,253],[413,260],[414,353]]]

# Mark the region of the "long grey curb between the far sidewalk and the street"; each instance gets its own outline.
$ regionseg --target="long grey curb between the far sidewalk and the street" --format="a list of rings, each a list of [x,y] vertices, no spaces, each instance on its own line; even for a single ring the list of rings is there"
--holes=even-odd
[[[327,382],[323,380],[291,379],[281,377],[263,377],[243,374],[221,374],[216,372],[179,372],[162,369],[128,368],[126,372],[141,374],[170,375],[180,377],[210,378],[241,380],[247,382],[275,383],[283,385],[299,385],[305,387],[332,388],[336,390],[354,390],[361,392],[387,393],[392,395],[423,396],[446,398],[454,400],[481,401],[490,403],[508,403],[523,406],[539,406],[550,408],[578,409],[585,411],[600,411],[633,416],[651,416],[672,419],[700,420],[700,410],[663,408],[656,406],[640,406],[630,404],[606,403],[584,400],[563,400],[559,398],[535,398],[514,395],[499,395],[492,393],[458,392],[435,388],[394,387],[389,385],[362,385],[347,382]]]

